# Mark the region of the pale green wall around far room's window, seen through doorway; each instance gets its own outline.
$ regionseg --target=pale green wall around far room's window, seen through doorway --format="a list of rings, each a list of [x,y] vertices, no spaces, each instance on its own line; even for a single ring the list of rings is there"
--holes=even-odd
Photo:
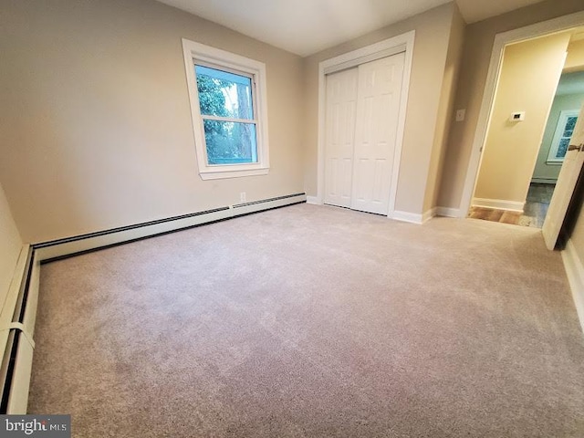
[[[536,170],[533,172],[533,178],[550,181],[558,180],[561,165],[547,164],[546,161],[549,148],[551,148],[551,141],[554,138],[554,133],[558,126],[559,113],[563,110],[579,110],[582,102],[584,102],[584,94],[569,94],[554,98],[554,103],[551,106],[549,118],[547,119],[544,138],[541,141],[541,148],[537,154]]]

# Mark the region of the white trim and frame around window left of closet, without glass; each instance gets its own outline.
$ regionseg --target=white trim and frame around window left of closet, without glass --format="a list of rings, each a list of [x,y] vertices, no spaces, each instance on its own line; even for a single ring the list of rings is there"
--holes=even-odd
[[[199,175],[203,180],[235,178],[242,176],[266,175],[269,172],[269,149],[267,137],[267,93],[266,64],[255,59],[242,57],[219,48],[205,46],[183,38],[184,70],[186,72],[191,118],[193,120],[194,146]],[[197,80],[194,63],[200,61],[217,67],[231,68],[245,72],[255,81],[254,112],[257,118],[257,162],[245,164],[214,164],[207,162],[203,121],[199,110]]]

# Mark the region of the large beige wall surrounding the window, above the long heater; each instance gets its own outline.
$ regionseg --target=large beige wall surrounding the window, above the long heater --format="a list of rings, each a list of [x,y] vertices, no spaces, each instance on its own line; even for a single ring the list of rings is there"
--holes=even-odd
[[[302,60],[152,0],[0,0],[0,183],[26,242],[303,191]],[[266,62],[266,176],[203,182],[181,38]]]

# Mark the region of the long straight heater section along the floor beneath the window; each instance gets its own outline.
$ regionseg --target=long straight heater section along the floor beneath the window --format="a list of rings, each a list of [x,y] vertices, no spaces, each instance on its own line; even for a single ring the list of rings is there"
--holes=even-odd
[[[120,245],[125,242],[162,235],[183,228],[190,228],[197,225],[209,224],[224,219],[229,219],[243,214],[251,214],[270,210],[272,208],[283,207],[294,203],[304,203],[307,201],[305,193],[296,193],[277,198],[255,201],[251,203],[239,203],[229,205],[206,212],[194,214],[184,214],[151,223],[136,224],[89,235],[79,235],[66,239],[59,239],[33,245],[36,258],[39,262],[56,259],[68,255],[87,252],[101,247]]]

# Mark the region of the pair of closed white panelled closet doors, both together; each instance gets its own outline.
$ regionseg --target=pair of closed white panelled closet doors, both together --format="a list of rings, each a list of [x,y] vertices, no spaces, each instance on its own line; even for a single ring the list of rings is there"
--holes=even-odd
[[[404,59],[327,76],[325,203],[389,213]]]

